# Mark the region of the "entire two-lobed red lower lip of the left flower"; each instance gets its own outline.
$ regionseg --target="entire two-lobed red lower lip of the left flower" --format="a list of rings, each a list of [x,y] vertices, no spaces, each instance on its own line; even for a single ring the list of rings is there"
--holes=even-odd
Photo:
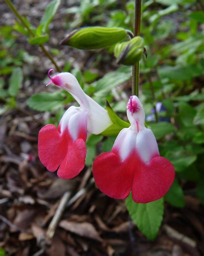
[[[62,134],[54,125],[44,126],[38,136],[38,153],[41,163],[47,170],[54,172],[62,179],[77,176],[85,165],[86,145],[83,137],[87,131],[80,131],[79,138],[73,141],[68,130]],[[85,138],[86,140],[86,138]]]

